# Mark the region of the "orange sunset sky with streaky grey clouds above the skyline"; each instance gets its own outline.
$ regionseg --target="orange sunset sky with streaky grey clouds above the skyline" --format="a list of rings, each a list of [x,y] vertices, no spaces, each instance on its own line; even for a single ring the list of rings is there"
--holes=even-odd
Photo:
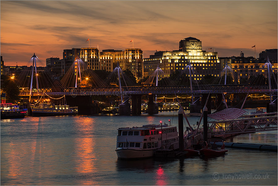
[[[45,63],[64,49],[178,50],[196,37],[219,57],[256,57],[277,48],[277,1],[1,1],[0,51],[4,65]]]

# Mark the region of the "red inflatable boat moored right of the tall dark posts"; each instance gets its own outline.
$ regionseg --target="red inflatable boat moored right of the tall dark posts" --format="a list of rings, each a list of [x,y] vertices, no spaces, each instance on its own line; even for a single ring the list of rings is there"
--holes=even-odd
[[[221,146],[221,149],[217,148],[217,145],[215,144],[215,142],[218,142],[218,141],[222,141],[222,140],[214,141],[214,143],[212,145],[210,145],[210,144],[208,145],[208,143],[206,141],[204,141],[206,145],[203,145],[203,148],[200,149],[201,155],[221,156],[221,155],[224,155],[226,152],[228,152],[228,150],[225,149],[225,144],[223,141],[222,141],[223,145]]]

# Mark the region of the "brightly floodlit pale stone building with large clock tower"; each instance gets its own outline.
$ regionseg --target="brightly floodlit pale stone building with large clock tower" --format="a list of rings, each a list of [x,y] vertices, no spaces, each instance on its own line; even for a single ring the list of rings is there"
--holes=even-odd
[[[145,58],[144,77],[150,76],[158,65],[164,71],[164,77],[169,77],[174,71],[182,71],[188,61],[198,72],[196,80],[201,80],[205,75],[218,76],[223,69],[217,52],[202,50],[202,41],[187,37],[180,40],[179,50],[159,51]]]

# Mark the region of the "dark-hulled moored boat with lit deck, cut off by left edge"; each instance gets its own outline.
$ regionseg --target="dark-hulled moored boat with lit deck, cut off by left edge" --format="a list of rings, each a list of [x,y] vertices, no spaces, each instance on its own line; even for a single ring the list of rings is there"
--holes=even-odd
[[[1,103],[0,110],[0,119],[24,118],[28,115],[28,109],[24,109],[23,106],[13,105],[12,103]]]

